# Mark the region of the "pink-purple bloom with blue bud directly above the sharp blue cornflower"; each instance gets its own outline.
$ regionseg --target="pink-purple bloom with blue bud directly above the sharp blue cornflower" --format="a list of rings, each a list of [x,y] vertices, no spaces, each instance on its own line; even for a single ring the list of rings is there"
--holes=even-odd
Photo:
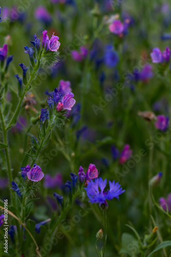
[[[88,182],[91,180],[91,179],[94,179],[94,178],[97,178],[98,175],[99,175],[99,172],[98,170],[96,169],[96,166],[94,164],[89,164],[89,167],[88,167],[88,170],[86,172],[86,174],[84,173],[83,171],[83,167],[80,166],[79,168],[79,180],[81,182],[83,182],[85,180],[85,185],[88,184]]]

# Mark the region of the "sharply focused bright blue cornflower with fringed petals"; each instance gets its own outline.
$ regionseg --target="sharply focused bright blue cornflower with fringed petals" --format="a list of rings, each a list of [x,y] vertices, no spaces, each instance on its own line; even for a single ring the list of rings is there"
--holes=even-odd
[[[117,198],[119,200],[119,195],[125,192],[125,190],[120,188],[121,185],[119,185],[119,182],[115,183],[114,180],[113,182],[109,181],[110,189],[104,191],[106,183],[107,179],[103,181],[102,178],[96,178],[94,182],[92,180],[88,182],[87,187],[84,189],[87,192],[87,196],[90,199],[89,202],[91,204],[99,204],[99,206],[105,204],[108,206],[106,200],[111,200],[112,198]]]

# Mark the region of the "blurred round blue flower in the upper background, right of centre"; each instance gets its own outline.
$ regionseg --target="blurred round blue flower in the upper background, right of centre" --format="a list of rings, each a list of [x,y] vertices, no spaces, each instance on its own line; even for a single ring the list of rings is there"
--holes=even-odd
[[[107,67],[113,68],[118,64],[119,57],[118,53],[113,50],[112,45],[108,45],[104,53],[104,63]]]

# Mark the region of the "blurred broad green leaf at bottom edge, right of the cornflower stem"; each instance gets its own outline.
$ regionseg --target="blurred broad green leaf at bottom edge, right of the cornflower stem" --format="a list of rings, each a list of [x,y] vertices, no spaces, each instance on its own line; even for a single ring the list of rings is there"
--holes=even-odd
[[[133,257],[139,252],[138,240],[129,233],[123,233],[121,238],[121,250],[119,253],[127,253],[129,256]]]

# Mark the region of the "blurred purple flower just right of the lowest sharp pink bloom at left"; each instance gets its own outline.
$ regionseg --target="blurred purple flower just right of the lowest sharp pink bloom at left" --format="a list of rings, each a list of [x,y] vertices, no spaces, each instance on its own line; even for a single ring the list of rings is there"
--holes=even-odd
[[[44,178],[44,187],[45,188],[56,188],[62,185],[63,179],[61,173],[56,173],[54,177],[50,174],[46,174]]]

